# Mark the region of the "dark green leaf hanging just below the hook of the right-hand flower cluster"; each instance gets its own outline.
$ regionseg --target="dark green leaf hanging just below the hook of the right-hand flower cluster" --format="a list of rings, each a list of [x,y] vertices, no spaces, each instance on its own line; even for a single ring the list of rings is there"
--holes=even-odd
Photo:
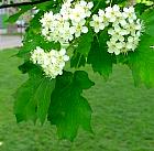
[[[112,72],[112,64],[116,63],[116,56],[109,54],[107,51],[107,41],[109,35],[107,31],[101,32],[100,35],[95,36],[91,50],[88,55],[88,64],[91,64],[94,72],[98,72],[108,78]]]

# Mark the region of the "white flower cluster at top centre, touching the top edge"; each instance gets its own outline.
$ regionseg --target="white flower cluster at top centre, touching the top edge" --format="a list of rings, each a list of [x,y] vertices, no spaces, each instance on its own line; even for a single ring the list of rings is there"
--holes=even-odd
[[[74,37],[87,33],[86,18],[90,17],[92,2],[84,0],[72,3],[67,0],[61,8],[59,13],[54,14],[52,11],[44,14],[41,19],[42,34],[54,42],[68,43]]]

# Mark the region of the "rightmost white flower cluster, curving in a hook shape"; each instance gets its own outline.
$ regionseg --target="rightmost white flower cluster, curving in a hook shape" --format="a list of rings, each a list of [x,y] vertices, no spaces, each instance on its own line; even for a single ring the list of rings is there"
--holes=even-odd
[[[123,8],[121,11],[116,4],[92,15],[90,26],[94,26],[96,33],[108,25],[111,25],[108,31],[111,39],[107,42],[109,53],[119,55],[136,48],[143,26],[133,7]]]

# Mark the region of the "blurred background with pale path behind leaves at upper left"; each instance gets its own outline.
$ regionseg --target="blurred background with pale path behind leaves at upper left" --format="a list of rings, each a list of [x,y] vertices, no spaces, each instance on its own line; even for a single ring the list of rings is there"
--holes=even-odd
[[[22,2],[22,0],[15,0],[13,2]],[[2,0],[1,4],[10,4],[11,0]],[[21,17],[15,23],[9,23],[7,20],[10,15],[18,11],[16,8],[0,9],[0,48],[9,48],[14,46],[21,46],[22,35],[24,34],[26,22],[30,19],[30,14]]]

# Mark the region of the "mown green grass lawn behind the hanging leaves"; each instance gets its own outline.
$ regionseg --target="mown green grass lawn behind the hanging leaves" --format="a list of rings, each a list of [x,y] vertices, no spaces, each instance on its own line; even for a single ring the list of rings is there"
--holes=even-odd
[[[154,151],[154,89],[135,88],[131,72],[119,65],[110,79],[90,72],[96,86],[85,91],[92,107],[95,134],[79,130],[72,144],[58,141],[55,127],[16,125],[15,89],[26,80],[16,66],[15,50],[0,52],[0,151]]]

